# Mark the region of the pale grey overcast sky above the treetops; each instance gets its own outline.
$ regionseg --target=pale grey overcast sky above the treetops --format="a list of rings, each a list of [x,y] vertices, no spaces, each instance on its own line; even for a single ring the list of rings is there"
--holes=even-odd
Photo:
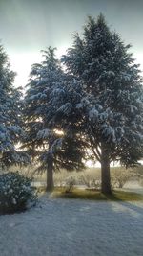
[[[112,30],[126,43],[143,70],[143,0],[0,0],[0,38],[25,85],[40,50],[57,47],[59,57],[72,45],[72,34],[82,33],[87,15],[102,12]]]

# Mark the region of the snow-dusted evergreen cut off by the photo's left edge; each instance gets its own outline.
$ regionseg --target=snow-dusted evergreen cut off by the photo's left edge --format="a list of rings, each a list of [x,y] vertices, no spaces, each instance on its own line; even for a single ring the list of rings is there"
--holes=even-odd
[[[0,45],[0,164],[2,167],[23,164],[29,157],[15,145],[23,136],[21,123],[21,92],[14,88],[15,73],[2,45]]]

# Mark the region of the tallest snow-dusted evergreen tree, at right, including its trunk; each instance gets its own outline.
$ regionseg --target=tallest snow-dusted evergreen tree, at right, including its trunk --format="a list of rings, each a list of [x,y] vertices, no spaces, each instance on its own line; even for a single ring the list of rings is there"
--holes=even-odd
[[[129,167],[143,155],[143,84],[130,47],[100,14],[89,17],[83,36],[74,36],[62,58],[87,93],[80,110],[92,154],[101,163],[103,193],[111,193],[112,161]]]

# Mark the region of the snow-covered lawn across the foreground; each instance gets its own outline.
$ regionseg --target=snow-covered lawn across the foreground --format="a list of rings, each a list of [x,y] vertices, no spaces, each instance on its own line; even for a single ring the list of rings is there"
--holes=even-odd
[[[0,216],[1,256],[142,256],[143,202],[39,199]]]

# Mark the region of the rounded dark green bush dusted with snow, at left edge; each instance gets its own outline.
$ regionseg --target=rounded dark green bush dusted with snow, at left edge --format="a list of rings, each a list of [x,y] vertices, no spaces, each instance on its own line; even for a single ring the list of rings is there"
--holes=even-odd
[[[0,175],[0,214],[21,212],[35,204],[31,180],[18,172]]]

